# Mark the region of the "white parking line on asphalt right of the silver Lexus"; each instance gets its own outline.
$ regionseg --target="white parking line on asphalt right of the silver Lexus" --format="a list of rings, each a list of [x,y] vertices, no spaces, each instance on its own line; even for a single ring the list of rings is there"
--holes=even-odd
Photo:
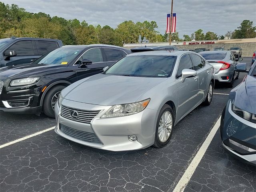
[[[221,116],[220,116],[220,118],[221,118]],[[196,167],[198,166],[199,162],[201,161],[202,157],[204,156],[208,146],[210,145],[214,135],[216,134],[216,132],[220,126],[220,118],[218,119],[218,121],[216,122],[216,124],[214,125],[214,127],[212,128],[210,133],[208,134],[206,140],[204,141],[204,143],[198,150],[196,156],[193,158],[192,162],[190,163],[190,165],[184,172],[182,178],[180,178],[180,181],[174,188],[173,192],[183,192],[184,189],[186,188],[190,178],[192,177],[192,175],[194,174],[194,171],[196,170]]]

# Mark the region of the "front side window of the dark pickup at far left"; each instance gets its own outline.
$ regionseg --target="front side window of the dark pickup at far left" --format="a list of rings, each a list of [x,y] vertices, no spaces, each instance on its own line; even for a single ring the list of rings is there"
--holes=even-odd
[[[19,41],[8,48],[7,51],[15,50],[17,56],[34,55],[34,48],[31,41]]]

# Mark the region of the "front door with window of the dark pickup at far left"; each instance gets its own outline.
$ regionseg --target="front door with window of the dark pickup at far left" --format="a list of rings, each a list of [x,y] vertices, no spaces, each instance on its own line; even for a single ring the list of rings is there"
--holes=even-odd
[[[15,50],[17,53],[17,56],[10,57],[10,60],[3,61],[6,63],[6,66],[30,63],[34,59],[38,58],[39,56],[36,55],[35,47],[32,44],[33,41],[34,40],[20,40],[20,41],[14,42],[14,44],[8,47],[5,51]]]

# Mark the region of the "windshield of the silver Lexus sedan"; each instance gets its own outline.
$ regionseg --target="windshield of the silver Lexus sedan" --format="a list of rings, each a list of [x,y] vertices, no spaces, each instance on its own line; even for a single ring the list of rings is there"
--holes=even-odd
[[[176,56],[127,56],[112,65],[104,74],[160,78],[168,77],[172,73],[175,61]]]

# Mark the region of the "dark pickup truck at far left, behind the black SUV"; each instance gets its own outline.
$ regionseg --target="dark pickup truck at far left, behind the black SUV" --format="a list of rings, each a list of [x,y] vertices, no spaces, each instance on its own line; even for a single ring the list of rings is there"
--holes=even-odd
[[[61,40],[42,38],[0,39],[0,67],[30,63],[63,46]]]

